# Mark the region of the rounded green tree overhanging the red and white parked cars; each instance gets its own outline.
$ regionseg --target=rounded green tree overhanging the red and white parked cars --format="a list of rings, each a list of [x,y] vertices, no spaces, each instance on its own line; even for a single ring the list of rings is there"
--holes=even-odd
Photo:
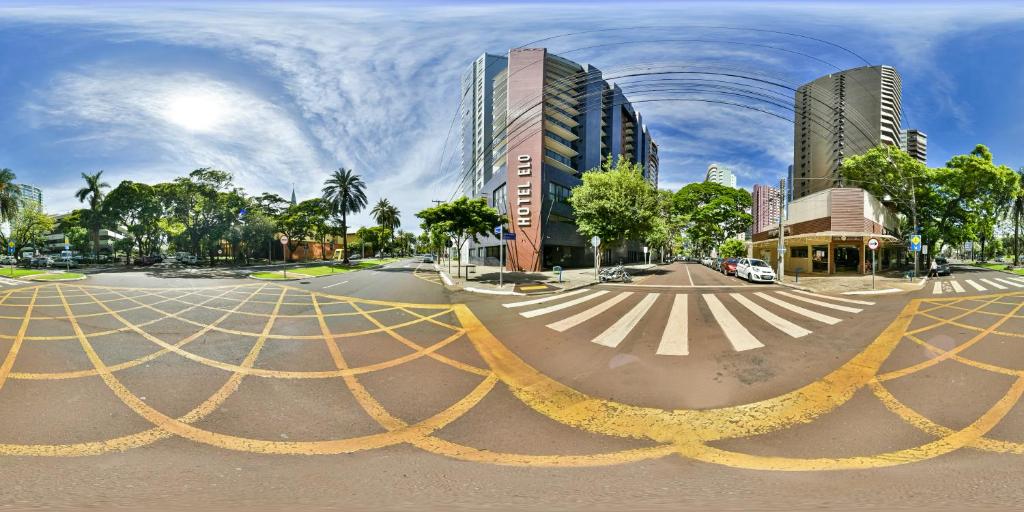
[[[753,217],[751,193],[710,181],[690,183],[676,193],[676,213],[700,254],[708,254],[728,238],[745,232]]]

